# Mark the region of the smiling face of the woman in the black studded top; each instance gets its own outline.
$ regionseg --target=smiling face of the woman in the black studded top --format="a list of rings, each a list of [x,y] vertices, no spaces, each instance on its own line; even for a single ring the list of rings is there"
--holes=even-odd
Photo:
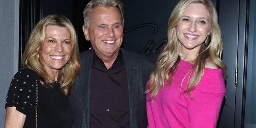
[[[48,25],[45,28],[45,42],[40,50],[40,62],[52,76],[68,62],[71,54],[70,32],[66,27]]]

